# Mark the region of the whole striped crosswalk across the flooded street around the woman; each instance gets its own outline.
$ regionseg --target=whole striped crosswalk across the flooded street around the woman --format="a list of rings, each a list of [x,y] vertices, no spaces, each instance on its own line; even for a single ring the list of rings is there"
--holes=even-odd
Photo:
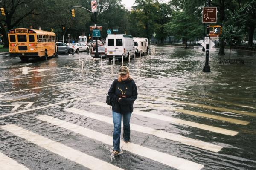
[[[85,97],[84,97],[85,98]],[[74,100],[70,100],[69,102],[73,102]],[[59,102],[57,103],[59,104],[65,104],[67,103],[67,101],[63,101],[63,102]],[[106,105],[105,103],[102,102],[90,102],[88,104],[91,105],[97,105],[103,108],[106,108],[109,106]],[[143,104],[143,103],[141,103]],[[162,109],[162,110],[172,110],[172,111],[177,111],[177,112],[182,112],[184,113],[184,109],[180,109],[179,108],[169,108],[168,107],[163,107],[163,106],[159,106],[156,104],[149,104],[149,103],[144,103],[145,106],[149,106],[152,108],[156,108],[156,109]],[[49,104],[47,105],[47,107],[51,107],[51,106],[55,106],[55,104]],[[195,105],[196,107],[196,105]],[[44,109],[46,107],[39,107],[39,109]],[[27,111],[34,111],[37,109],[29,109]],[[110,111],[110,109],[109,109]],[[26,111],[20,111],[17,112],[18,113],[23,113]],[[70,107],[70,108],[65,108],[64,112],[68,113],[72,113],[73,115],[80,115],[82,117],[86,117],[86,118],[92,118],[94,120],[100,121],[100,122],[104,122],[106,124],[111,124],[113,125],[113,120],[111,117],[108,116],[104,116],[101,115],[97,112],[89,112],[85,109],[78,109],[76,107]],[[157,113],[152,113],[152,112],[145,112],[145,111],[140,111],[138,109],[134,109],[133,112],[134,115],[136,116],[144,116],[144,117],[148,117],[151,119],[158,119],[160,121],[166,121],[172,124],[180,124],[180,125],[186,125],[186,126],[190,126],[190,127],[195,127],[201,130],[207,130],[213,133],[219,133],[219,134],[223,134],[223,135],[227,135],[227,136],[236,136],[239,132],[238,131],[233,131],[233,130],[227,130],[224,128],[220,128],[220,127],[214,127],[214,126],[209,126],[206,124],[199,124],[199,123],[195,123],[192,121],[185,121],[182,120],[180,118],[174,118],[172,116],[166,116],[166,115],[160,115]],[[204,113],[207,114],[207,113]],[[15,114],[12,114],[15,115]],[[193,114],[192,114],[193,115]],[[10,115],[8,115],[10,116]],[[199,117],[205,117],[204,115],[196,115]],[[105,135],[104,133],[101,133],[99,131],[95,131],[95,130],[91,130],[87,127],[83,127],[81,125],[77,125],[74,123],[70,123],[68,121],[64,121],[58,118],[55,118],[53,116],[49,116],[49,115],[38,115],[35,116],[36,119],[38,119],[39,121],[43,121],[43,122],[47,122],[49,124],[52,124],[54,126],[57,127],[61,127],[64,128],[66,130],[69,130],[73,133],[82,135],[84,137],[90,138],[92,140],[101,142],[102,144],[107,144],[109,146],[112,146],[112,136],[110,135]],[[210,117],[209,117],[210,118]],[[212,118],[214,119],[214,118]],[[215,119],[215,120],[219,120],[219,119]],[[234,119],[236,120],[236,119]],[[225,121],[224,119],[221,119],[221,121]],[[241,120],[237,120],[237,121],[227,121],[230,123],[235,123],[235,124],[241,124],[246,126],[247,124],[249,124],[250,122],[247,121],[241,121]],[[116,164],[113,164],[111,162],[107,162],[107,161],[103,161],[100,158],[96,158],[93,156],[90,156],[90,153],[84,153],[81,152],[79,150],[76,150],[72,147],[68,147],[64,144],[62,144],[61,142],[57,142],[57,141],[53,141],[45,136],[41,136],[38,135],[37,133],[34,133],[30,130],[26,130],[23,127],[17,126],[15,124],[6,124],[3,126],[0,126],[0,129],[5,130],[6,132],[12,133],[20,138],[25,139],[26,141],[31,142],[32,144],[36,144],[46,150],[49,150],[52,153],[58,154],[59,156],[62,156],[70,161],[76,162],[77,164],[80,164],[86,168],[89,168],[91,170],[122,170],[121,167],[119,167]],[[177,135],[175,133],[169,133],[166,132],[164,130],[157,130],[151,127],[146,127],[146,126],[141,126],[141,125],[137,125],[137,124],[132,124],[131,123],[131,130],[133,131],[137,131],[139,133],[145,133],[145,134],[149,134],[149,135],[154,135],[157,138],[160,139],[168,139],[171,141],[176,141],[179,142],[180,144],[184,144],[184,145],[188,145],[191,146],[192,148],[199,148],[201,150],[207,150],[213,153],[218,153],[220,152],[224,146],[219,146],[218,144],[214,144],[212,142],[205,142],[205,141],[201,141],[201,140],[197,140],[197,139],[192,139],[192,138],[188,138],[182,135]],[[164,164],[168,167],[172,167],[175,168],[177,170],[201,170],[204,168],[204,164],[199,164],[198,162],[194,162],[193,160],[187,160],[186,158],[180,158],[178,156],[174,156],[168,153],[164,153],[164,152],[160,152],[156,149],[151,149],[149,147],[144,147],[141,146],[139,144],[136,143],[125,143],[123,141],[121,141],[121,148],[122,150],[125,150],[129,153],[133,153],[137,156],[141,156],[143,158],[147,158],[150,159],[152,161],[156,161],[160,164]],[[1,170],[28,170],[28,168],[26,167],[26,164],[20,164],[17,161],[15,161],[14,159],[6,156],[5,154],[0,152],[0,164],[3,164],[3,167],[1,167]]]

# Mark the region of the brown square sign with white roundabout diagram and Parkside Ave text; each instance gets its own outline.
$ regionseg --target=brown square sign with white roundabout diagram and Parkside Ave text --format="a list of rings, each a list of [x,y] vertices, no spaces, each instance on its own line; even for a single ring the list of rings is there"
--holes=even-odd
[[[217,22],[217,7],[203,7],[203,23]]]

